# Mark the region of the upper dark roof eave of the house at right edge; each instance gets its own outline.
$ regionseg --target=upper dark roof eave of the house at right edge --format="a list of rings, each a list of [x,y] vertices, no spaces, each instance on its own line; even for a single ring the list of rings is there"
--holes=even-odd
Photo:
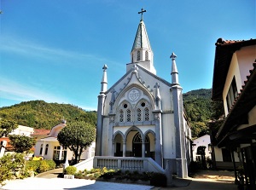
[[[222,92],[233,54],[241,47],[255,45],[256,39],[224,40],[218,38],[212,79],[212,100],[222,100]]]

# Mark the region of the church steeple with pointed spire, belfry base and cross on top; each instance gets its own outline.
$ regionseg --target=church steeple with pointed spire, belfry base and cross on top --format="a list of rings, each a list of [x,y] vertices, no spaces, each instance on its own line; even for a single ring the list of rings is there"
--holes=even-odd
[[[140,23],[137,27],[137,33],[131,49],[131,64],[136,63],[146,68],[149,72],[156,74],[154,69],[153,51],[151,49],[146,26],[143,21],[143,13],[146,10],[142,9],[138,14],[142,14]],[[131,69],[131,66],[127,66],[127,71]]]

